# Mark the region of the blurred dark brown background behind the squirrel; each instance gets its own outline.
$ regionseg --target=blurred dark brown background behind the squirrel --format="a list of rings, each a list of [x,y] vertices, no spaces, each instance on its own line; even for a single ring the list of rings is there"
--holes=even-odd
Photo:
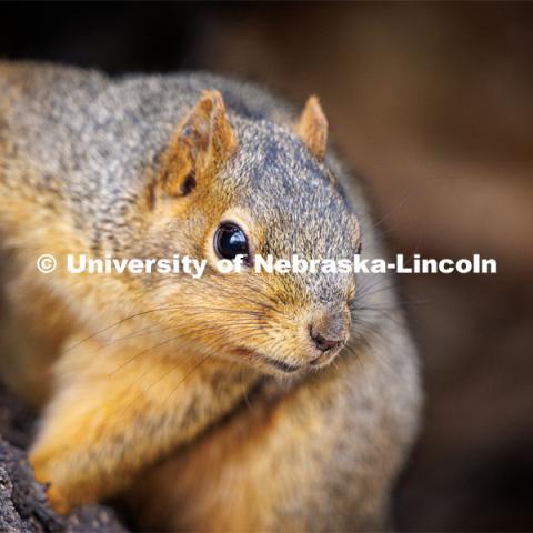
[[[425,421],[401,531],[533,530],[533,3],[2,3],[0,56],[203,69],[318,93],[396,252],[496,258],[404,276]]]

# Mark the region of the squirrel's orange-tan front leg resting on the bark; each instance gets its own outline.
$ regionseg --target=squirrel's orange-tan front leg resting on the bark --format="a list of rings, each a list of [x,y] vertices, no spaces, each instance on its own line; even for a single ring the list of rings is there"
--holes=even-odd
[[[230,410],[248,386],[245,376],[221,373],[212,361],[137,352],[84,342],[58,362],[30,461],[61,513],[124,487]]]

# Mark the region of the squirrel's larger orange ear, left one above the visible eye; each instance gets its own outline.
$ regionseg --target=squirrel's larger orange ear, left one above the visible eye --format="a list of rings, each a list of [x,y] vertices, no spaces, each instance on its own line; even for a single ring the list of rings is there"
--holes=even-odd
[[[162,158],[162,187],[167,194],[185,195],[207,179],[237,148],[219,91],[203,91],[180,124]]]

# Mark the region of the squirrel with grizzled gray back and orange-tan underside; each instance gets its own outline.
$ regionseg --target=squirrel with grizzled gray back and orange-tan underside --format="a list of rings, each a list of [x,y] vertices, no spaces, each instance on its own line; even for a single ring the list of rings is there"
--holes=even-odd
[[[120,495],[151,529],[388,526],[421,410],[394,280],[213,266],[385,257],[326,144],[316,97],[298,113],[210,73],[0,62],[2,341],[18,341],[1,372],[41,409],[30,462],[58,512]],[[36,269],[175,252],[204,275]]]

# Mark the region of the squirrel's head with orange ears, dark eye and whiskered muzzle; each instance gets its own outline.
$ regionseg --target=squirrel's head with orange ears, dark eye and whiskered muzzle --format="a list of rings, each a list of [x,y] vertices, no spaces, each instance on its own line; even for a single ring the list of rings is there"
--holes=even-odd
[[[353,273],[257,273],[274,260],[352,259],[359,223],[325,162],[316,98],[293,124],[229,115],[205,91],[173,133],[150,192],[144,253],[207,259],[200,279],[152,281],[151,304],[182,345],[274,373],[321,368],[348,342]],[[219,259],[244,255],[240,273]]]

